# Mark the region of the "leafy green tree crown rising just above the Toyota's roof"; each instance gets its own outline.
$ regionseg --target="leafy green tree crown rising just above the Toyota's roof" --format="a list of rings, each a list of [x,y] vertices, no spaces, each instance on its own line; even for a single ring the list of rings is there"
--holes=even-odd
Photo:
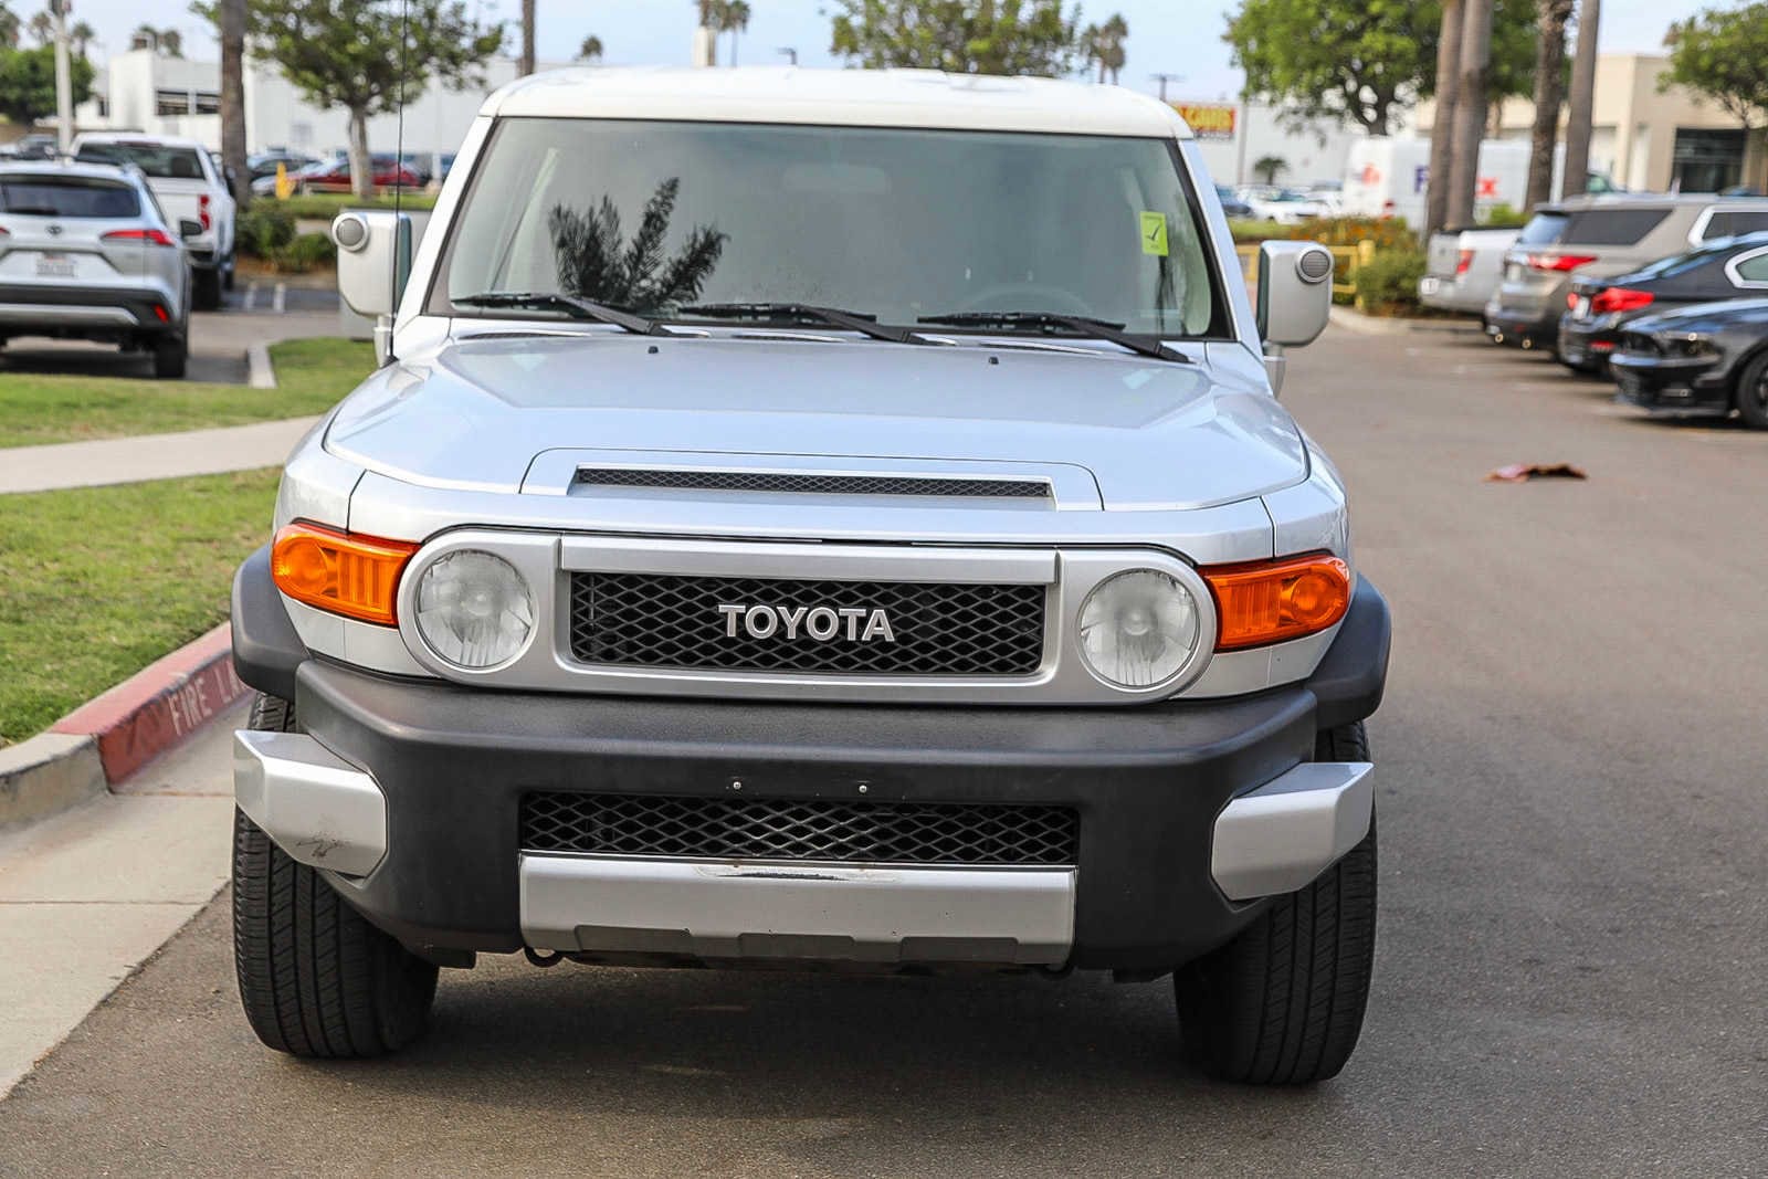
[[[866,69],[1071,74],[1080,9],[1061,0],[834,0],[829,49]]]

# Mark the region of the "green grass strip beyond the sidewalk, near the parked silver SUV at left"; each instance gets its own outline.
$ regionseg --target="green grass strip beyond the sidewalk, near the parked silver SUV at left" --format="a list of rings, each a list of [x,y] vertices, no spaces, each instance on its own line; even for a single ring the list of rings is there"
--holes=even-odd
[[[322,414],[375,369],[350,339],[271,345],[276,389],[127,377],[0,375],[0,447],[209,430]]]

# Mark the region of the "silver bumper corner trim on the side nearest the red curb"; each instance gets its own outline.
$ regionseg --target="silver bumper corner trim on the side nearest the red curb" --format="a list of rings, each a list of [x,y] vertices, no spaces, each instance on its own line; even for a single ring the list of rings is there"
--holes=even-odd
[[[306,734],[233,734],[233,799],[302,864],[366,877],[387,854],[387,799]]]

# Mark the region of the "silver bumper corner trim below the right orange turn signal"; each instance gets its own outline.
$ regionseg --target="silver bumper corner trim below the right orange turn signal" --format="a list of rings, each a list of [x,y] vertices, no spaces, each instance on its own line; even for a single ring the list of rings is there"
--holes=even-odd
[[[1215,822],[1209,871],[1231,900],[1294,893],[1368,834],[1368,762],[1303,762],[1229,802]]]

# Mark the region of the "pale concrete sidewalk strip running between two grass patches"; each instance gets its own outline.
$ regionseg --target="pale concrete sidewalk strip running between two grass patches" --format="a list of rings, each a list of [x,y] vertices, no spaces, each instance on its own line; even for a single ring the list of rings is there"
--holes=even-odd
[[[281,467],[318,417],[0,451],[0,495]]]

